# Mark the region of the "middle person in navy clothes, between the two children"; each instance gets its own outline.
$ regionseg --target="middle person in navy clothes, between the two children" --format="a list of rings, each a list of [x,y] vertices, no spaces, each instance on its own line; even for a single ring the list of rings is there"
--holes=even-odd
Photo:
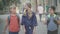
[[[25,34],[33,34],[35,26],[37,26],[37,19],[35,14],[31,11],[31,4],[26,3],[24,15],[22,16],[22,25],[25,28]]]

